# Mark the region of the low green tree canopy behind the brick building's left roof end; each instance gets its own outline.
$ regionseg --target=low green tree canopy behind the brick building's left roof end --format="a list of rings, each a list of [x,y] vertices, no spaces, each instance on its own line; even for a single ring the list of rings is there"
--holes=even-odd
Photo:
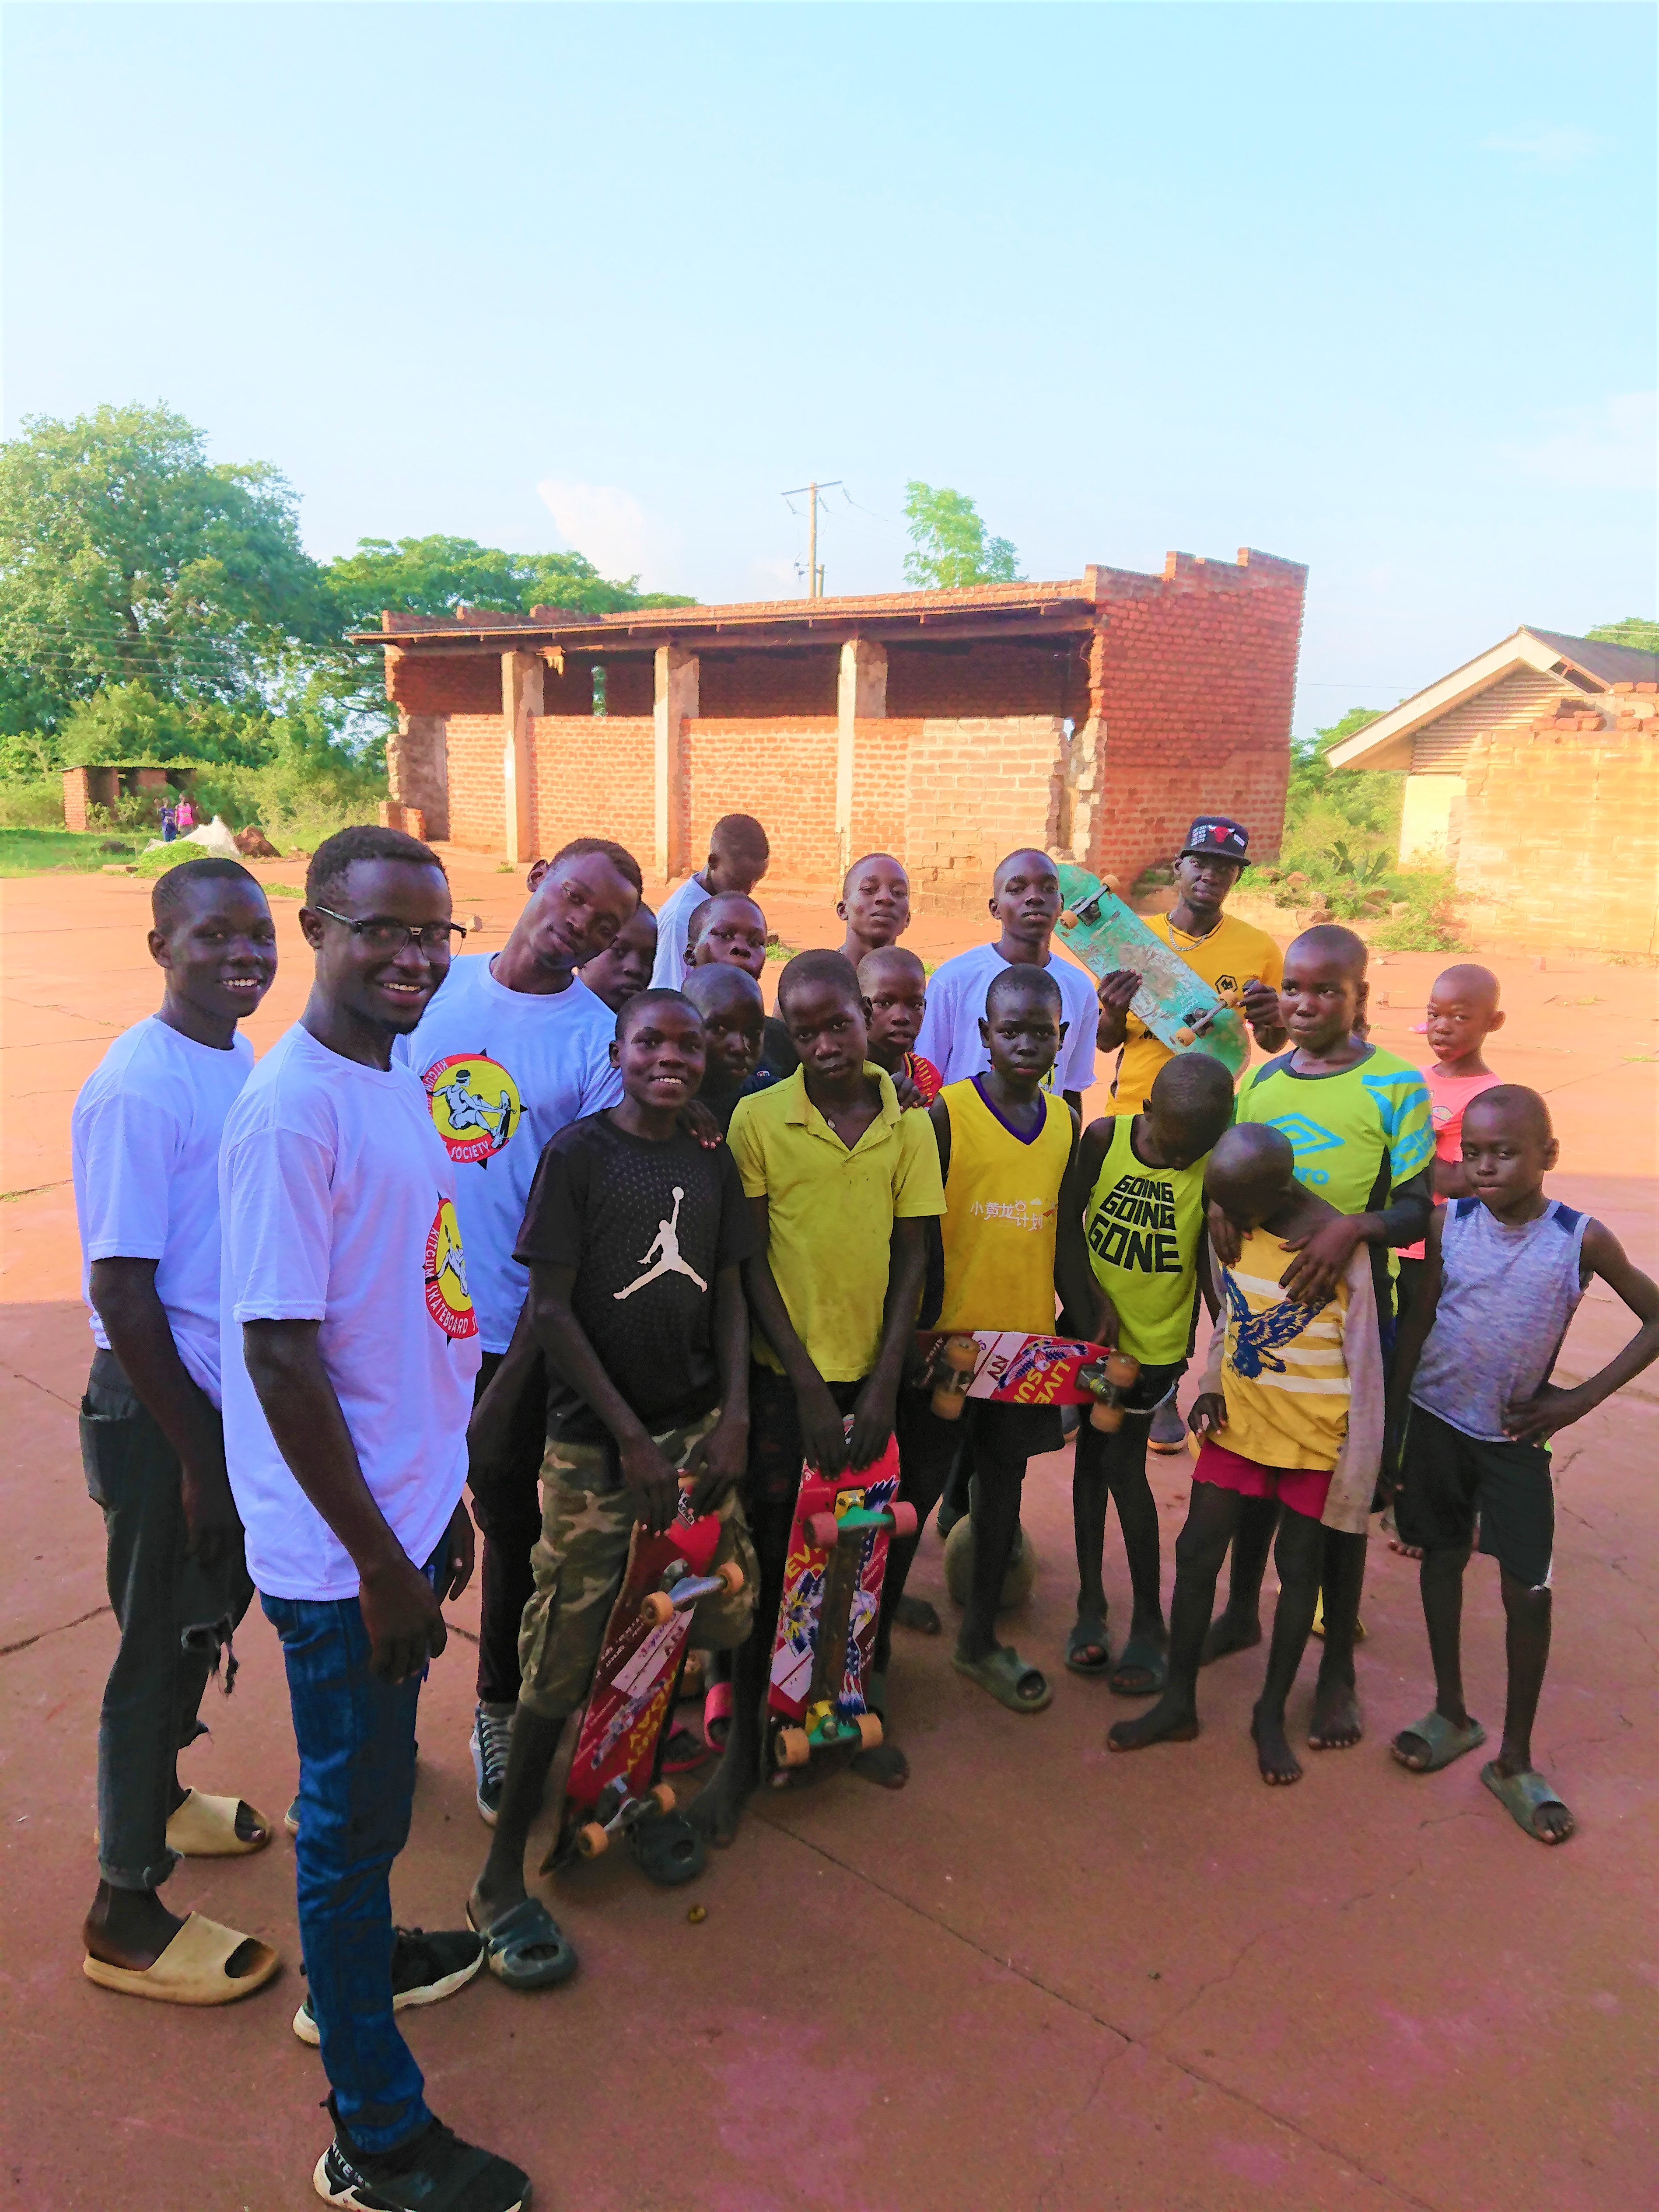
[[[374,628],[380,608],[403,615],[451,615],[458,606],[529,615],[533,606],[580,606],[613,615],[628,606],[692,606],[664,591],[639,591],[639,577],[611,582],[580,553],[500,553],[471,538],[358,538],[325,568],[327,586],[349,628]]]

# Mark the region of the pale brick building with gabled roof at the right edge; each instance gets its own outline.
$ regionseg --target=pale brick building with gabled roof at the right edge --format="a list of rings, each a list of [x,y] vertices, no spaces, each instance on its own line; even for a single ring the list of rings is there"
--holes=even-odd
[[[1659,951],[1659,653],[1522,626],[1332,750],[1405,770],[1400,858],[1540,949]]]

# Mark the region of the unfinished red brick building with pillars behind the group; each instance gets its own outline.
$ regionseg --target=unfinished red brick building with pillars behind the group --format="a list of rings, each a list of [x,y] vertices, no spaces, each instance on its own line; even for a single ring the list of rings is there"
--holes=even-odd
[[[1170,553],[1060,584],[387,613],[387,818],[513,863],[615,836],[672,880],[719,814],[759,814],[774,885],[887,849],[931,911],[978,907],[1015,845],[1133,880],[1206,810],[1272,858],[1305,582]]]

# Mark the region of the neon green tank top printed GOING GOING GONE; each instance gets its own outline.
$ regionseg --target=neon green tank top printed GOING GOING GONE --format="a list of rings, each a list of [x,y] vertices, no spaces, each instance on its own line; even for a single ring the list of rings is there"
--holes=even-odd
[[[1117,1115],[1088,1194],[1088,1263],[1117,1307],[1117,1349],[1172,1367],[1192,1336],[1203,1237],[1203,1168],[1148,1168],[1135,1157],[1135,1115]]]

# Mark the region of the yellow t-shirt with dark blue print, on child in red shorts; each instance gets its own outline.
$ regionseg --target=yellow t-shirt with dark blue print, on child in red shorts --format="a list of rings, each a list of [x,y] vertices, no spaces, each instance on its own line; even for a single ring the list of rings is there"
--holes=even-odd
[[[1228,1425],[1217,1442],[1259,1467],[1336,1467],[1349,1400],[1347,1283],[1336,1285],[1329,1305],[1292,1305],[1279,1287],[1290,1259],[1276,1237],[1250,1230],[1237,1267],[1221,1270]]]

